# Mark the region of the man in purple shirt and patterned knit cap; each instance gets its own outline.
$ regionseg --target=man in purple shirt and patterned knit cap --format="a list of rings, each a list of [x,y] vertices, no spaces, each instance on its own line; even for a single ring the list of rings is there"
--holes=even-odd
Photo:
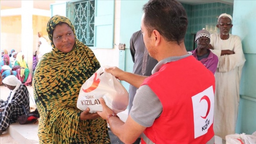
[[[197,48],[192,51],[193,56],[199,60],[207,69],[211,70],[213,74],[217,69],[218,57],[213,54],[207,47],[210,43],[210,33],[203,28],[203,30],[198,31],[195,39],[197,43]]]

